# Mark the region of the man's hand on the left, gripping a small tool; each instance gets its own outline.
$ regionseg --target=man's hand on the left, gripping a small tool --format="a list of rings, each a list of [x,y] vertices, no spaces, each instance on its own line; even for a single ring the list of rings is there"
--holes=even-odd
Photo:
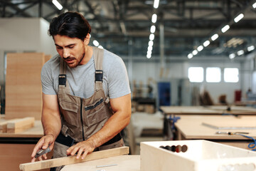
[[[31,162],[35,162],[36,161],[35,156],[36,156],[36,152],[38,152],[38,150],[41,150],[41,149],[45,150],[48,147],[49,144],[50,144],[50,150],[53,150],[54,140],[55,139],[54,139],[54,136],[52,134],[43,136],[38,141],[36,146],[33,148],[33,152],[32,152],[32,155],[31,155],[31,157],[32,157]],[[47,159],[46,154],[44,154],[44,155],[41,155],[40,157],[38,157],[38,160],[40,160],[40,161],[43,160],[42,157],[44,159]]]

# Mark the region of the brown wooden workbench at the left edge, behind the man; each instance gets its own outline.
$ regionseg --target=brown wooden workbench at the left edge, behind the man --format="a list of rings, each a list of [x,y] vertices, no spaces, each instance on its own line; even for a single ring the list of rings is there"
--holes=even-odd
[[[33,147],[42,136],[43,126],[40,120],[35,121],[33,128],[22,133],[0,133],[1,170],[16,171],[21,163],[31,162]],[[48,157],[51,157],[51,153]]]

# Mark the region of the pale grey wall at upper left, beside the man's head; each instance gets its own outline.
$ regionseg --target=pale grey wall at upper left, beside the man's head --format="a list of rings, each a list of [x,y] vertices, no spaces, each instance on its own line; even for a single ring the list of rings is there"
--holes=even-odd
[[[56,54],[53,39],[48,36],[48,21],[40,18],[0,19],[0,85],[4,85],[4,56],[9,52],[43,52]],[[1,90],[1,97],[3,90]]]

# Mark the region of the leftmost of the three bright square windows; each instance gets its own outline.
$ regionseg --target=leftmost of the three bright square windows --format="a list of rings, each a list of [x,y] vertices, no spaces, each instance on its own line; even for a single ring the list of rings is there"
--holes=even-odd
[[[190,82],[201,83],[203,82],[203,68],[202,67],[189,67],[188,78]]]

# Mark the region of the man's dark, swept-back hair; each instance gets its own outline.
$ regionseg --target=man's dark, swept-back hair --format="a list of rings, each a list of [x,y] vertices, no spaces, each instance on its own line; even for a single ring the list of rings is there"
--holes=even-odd
[[[68,11],[53,18],[48,33],[50,36],[59,34],[70,38],[80,38],[84,41],[90,31],[90,24],[82,14]]]

